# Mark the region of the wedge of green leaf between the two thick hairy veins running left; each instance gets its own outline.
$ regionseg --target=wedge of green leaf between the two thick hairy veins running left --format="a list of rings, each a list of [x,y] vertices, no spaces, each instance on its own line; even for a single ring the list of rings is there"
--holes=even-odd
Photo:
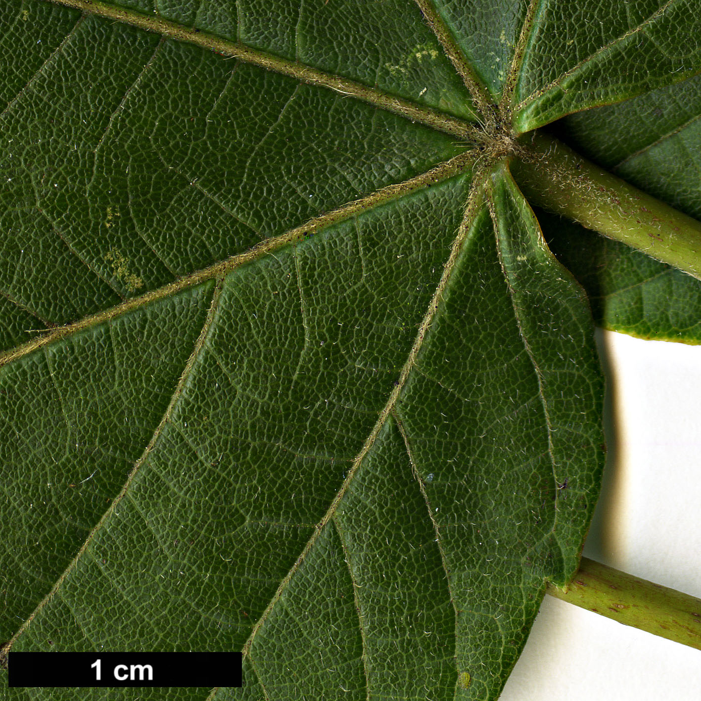
[[[461,150],[341,93],[69,8],[49,42],[45,6],[3,8],[8,34],[52,47],[26,86],[11,76],[2,116],[8,329],[109,308]]]

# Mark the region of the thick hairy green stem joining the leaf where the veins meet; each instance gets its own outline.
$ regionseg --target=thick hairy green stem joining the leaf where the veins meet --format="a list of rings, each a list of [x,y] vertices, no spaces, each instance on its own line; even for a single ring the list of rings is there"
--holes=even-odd
[[[533,203],[701,279],[701,223],[696,219],[543,133],[527,135],[516,156],[512,172]]]

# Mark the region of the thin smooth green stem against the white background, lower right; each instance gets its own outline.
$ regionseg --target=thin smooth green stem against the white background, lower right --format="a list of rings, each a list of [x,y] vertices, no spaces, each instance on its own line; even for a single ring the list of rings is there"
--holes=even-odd
[[[701,650],[701,599],[582,558],[569,586],[547,593],[623,625]]]

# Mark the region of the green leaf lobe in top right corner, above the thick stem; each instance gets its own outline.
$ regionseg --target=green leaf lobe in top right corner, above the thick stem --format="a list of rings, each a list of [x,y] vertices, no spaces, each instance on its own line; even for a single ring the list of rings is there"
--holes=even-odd
[[[531,3],[515,125],[529,131],[694,76],[701,59],[694,8],[693,0]]]

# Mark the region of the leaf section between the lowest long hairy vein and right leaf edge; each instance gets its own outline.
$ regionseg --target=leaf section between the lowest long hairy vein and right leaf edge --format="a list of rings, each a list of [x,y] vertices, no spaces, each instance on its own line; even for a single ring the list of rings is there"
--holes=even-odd
[[[320,634],[358,643],[355,620],[343,625],[338,615],[319,626],[309,613],[316,609],[311,601],[303,609],[288,603],[295,592],[311,590],[309,571],[343,569],[341,546],[356,587],[367,680],[367,688],[344,685],[343,693],[360,698],[496,697],[538,611],[543,579],[564,581],[576,569],[574,544],[594,505],[603,450],[598,424],[582,420],[583,410],[595,414],[601,404],[592,323],[578,285],[538,243],[537,224],[512,181],[503,173],[496,180],[502,260],[515,287],[505,284],[482,207],[469,224],[396,415],[388,417],[319,536],[338,553],[336,566],[305,560],[281,594],[283,606],[273,608],[250,648],[250,662],[262,686],[271,681],[272,697],[304,697],[306,682],[289,680],[306,679],[316,665],[328,674],[334,656],[319,650],[334,651],[339,641]],[[544,294],[529,285],[529,273],[538,287],[545,278],[551,289]],[[529,294],[539,303],[537,315],[519,308]],[[571,334],[559,351],[541,340],[552,323]],[[563,399],[563,386],[576,399]],[[534,418],[533,405],[546,420]],[[404,515],[400,533],[393,529],[397,512]],[[439,562],[445,582],[435,576]],[[320,600],[332,601],[330,593]],[[278,648],[271,666],[267,651],[297,626],[303,632],[293,648],[304,639],[318,641],[298,653],[305,664]],[[407,639],[419,626],[423,639],[419,635],[412,651]],[[417,653],[418,679],[406,666]],[[335,697],[333,689],[325,688],[324,697]]]

